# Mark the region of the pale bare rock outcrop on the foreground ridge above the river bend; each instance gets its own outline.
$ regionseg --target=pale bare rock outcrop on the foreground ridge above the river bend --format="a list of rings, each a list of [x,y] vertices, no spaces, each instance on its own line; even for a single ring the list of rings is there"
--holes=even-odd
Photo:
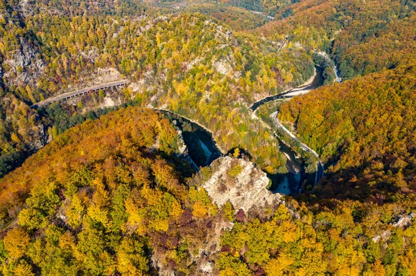
[[[202,185],[211,199],[221,208],[230,201],[235,210],[248,212],[252,208],[265,208],[267,205],[283,203],[281,194],[273,194],[267,187],[266,173],[254,167],[250,161],[234,159],[229,156],[219,158],[218,170]],[[241,166],[241,173],[230,176],[229,170]]]

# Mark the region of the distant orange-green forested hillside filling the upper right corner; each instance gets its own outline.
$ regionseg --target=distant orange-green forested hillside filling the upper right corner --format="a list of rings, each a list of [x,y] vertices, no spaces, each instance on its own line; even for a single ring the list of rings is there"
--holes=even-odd
[[[331,53],[343,79],[406,64],[414,56],[415,1],[316,1],[290,7],[261,28],[270,39],[285,35],[311,50]]]

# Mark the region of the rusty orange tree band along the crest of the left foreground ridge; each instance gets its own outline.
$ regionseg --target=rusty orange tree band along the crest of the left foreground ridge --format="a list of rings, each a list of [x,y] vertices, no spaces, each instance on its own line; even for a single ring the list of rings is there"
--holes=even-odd
[[[137,124],[141,125],[140,129],[135,128]],[[68,177],[67,172],[62,171],[63,167],[69,169],[72,163],[80,163],[81,167],[85,167],[85,164],[89,164],[88,158],[106,160],[119,147],[125,147],[130,154],[134,154],[136,149],[157,144],[164,154],[172,155],[177,151],[177,142],[176,132],[170,127],[168,120],[162,120],[150,111],[130,108],[116,111],[101,120],[87,120],[81,127],[78,125],[59,136],[40,154],[28,158],[25,165],[19,167],[13,176],[1,179],[1,221],[4,223],[15,217],[12,210],[19,208],[12,206],[24,203],[26,195],[34,185],[51,181],[51,178],[62,183],[62,178]],[[127,149],[128,147],[130,148]],[[72,154],[75,155],[69,158]],[[58,167],[53,168],[53,164]]]

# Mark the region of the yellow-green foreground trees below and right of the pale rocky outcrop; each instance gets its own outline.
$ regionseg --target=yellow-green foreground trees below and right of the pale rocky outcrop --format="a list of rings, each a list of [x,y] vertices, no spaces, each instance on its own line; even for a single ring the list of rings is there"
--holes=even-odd
[[[297,203],[295,203],[297,204]],[[284,205],[267,221],[237,222],[221,238],[219,275],[414,275],[415,224],[389,224],[399,205],[338,203],[295,219]],[[406,242],[408,241],[408,242]]]

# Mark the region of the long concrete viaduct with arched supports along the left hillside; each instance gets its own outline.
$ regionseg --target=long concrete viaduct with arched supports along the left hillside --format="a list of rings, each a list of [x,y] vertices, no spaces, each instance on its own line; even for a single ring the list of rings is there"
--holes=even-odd
[[[42,102],[37,102],[36,104],[33,104],[33,106],[31,106],[31,107],[32,108],[45,107],[46,105],[51,104],[52,102],[60,102],[62,100],[69,100],[71,98],[76,98],[80,95],[84,95],[84,94],[87,94],[87,93],[92,92],[92,91],[100,91],[101,89],[107,89],[107,88],[117,88],[117,87],[125,86],[128,83],[129,83],[129,81],[127,79],[118,80],[116,82],[107,82],[105,84],[91,86],[91,87],[87,87],[85,89],[80,89],[80,90],[76,90],[76,91],[62,93],[62,94],[57,95],[55,97],[51,97],[51,98],[47,98],[46,100],[42,100]]]

